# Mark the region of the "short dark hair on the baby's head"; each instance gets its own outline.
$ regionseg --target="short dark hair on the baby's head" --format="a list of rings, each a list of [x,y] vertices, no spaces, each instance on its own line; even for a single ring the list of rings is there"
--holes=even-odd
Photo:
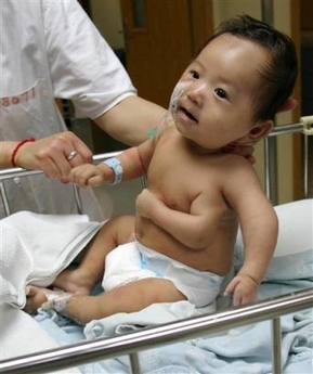
[[[217,28],[206,46],[223,34],[256,42],[269,52],[269,62],[259,69],[256,87],[256,120],[273,119],[290,98],[298,75],[295,44],[287,35],[249,15],[231,18]]]

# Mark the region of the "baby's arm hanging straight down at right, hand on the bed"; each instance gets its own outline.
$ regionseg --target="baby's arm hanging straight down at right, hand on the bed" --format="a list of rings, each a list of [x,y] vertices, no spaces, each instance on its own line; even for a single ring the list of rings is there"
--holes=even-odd
[[[237,178],[233,179],[235,176]],[[237,306],[257,299],[258,285],[275,250],[278,221],[250,166],[230,175],[229,182],[226,198],[238,215],[245,248],[243,267],[225,289],[234,294]]]

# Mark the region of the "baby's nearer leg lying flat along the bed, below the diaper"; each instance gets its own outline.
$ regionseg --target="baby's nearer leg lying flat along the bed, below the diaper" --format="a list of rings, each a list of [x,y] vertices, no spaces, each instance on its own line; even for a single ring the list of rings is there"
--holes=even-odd
[[[174,284],[165,279],[148,278],[128,283],[100,296],[71,295],[63,313],[79,324],[113,315],[135,312],[154,302],[173,302],[186,299]]]

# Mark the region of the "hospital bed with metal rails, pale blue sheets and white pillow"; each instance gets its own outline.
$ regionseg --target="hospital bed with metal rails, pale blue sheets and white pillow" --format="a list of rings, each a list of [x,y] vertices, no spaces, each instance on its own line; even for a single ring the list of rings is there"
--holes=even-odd
[[[22,319],[23,323],[26,320],[29,323],[32,320],[28,338],[23,340],[28,341],[26,345],[35,343],[39,328],[44,334],[38,335],[39,344],[34,352],[26,350],[26,354],[22,341],[19,354],[9,358],[4,354],[0,373],[311,373],[313,199],[308,191],[309,160],[305,155],[308,138],[313,134],[312,122],[312,116],[301,118],[299,124],[278,126],[271,133],[271,137],[303,134],[305,185],[302,199],[275,206],[279,237],[257,304],[233,308],[230,300],[220,297],[217,311],[194,310],[184,301],[154,305],[139,313],[92,321],[84,328],[56,313],[52,315],[44,311],[32,319],[16,308],[2,306],[1,339],[12,339],[12,345],[18,345],[18,332],[15,331],[15,338],[8,335],[10,331],[13,334],[14,325],[17,325],[15,313],[19,313],[16,321]],[[115,153],[97,155],[94,162],[113,155]],[[265,185],[270,194],[271,172],[266,163],[269,153],[265,152]],[[0,182],[37,172],[18,168],[2,170]],[[10,202],[5,201],[5,189],[1,183],[0,189],[10,215]],[[80,209],[79,198],[77,205]],[[235,268],[242,260],[239,233]],[[27,331],[27,323],[25,328]],[[19,337],[22,339],[22,334]],[[44,344],[44,338],[50,345]],[[10,343],[0,343],[2,350],[8,346]]]

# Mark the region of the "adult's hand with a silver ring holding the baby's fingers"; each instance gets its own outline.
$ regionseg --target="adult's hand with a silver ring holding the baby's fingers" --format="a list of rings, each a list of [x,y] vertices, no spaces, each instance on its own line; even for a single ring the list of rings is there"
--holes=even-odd
[[[15,164],[25,169],[42,170],[47,177],[67,182],[73,167],[91,163],[92,152],[70,131],[60,132],[18,149]]]

